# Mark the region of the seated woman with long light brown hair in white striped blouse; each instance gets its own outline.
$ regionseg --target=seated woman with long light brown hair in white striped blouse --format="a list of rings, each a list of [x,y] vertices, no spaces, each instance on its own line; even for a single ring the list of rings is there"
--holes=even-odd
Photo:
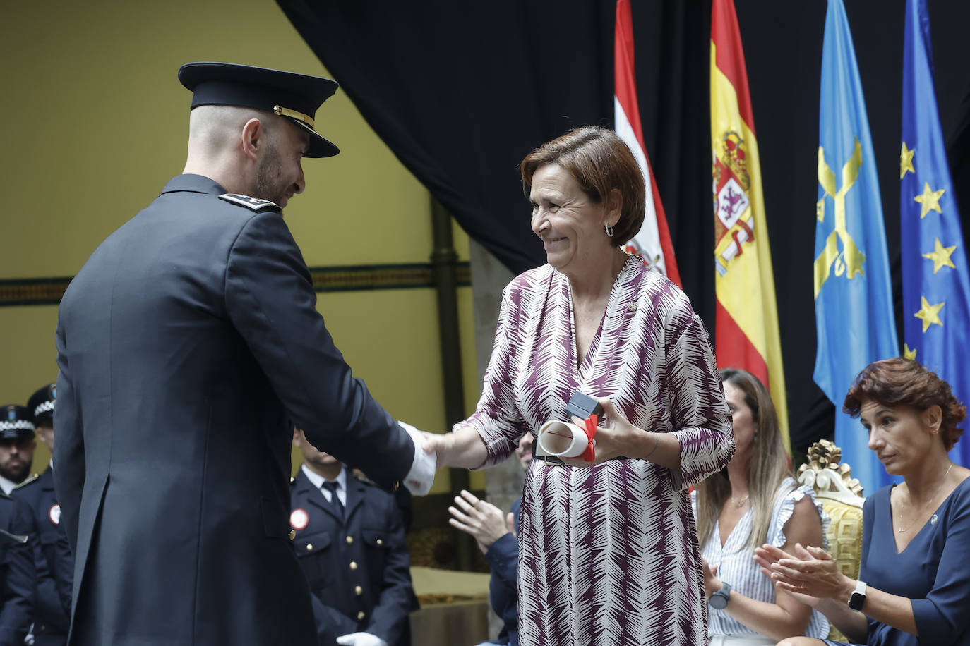
[[[792,477],[767,388],[749,372],[721,371],[737,450],[727,469],[695,488],[697,535],[704,558],[712,646],[771,645],[792,635],[824,637],[820,612],[776,594],[760,572],[755,548],[824,545],[828,516],[812,487]]]

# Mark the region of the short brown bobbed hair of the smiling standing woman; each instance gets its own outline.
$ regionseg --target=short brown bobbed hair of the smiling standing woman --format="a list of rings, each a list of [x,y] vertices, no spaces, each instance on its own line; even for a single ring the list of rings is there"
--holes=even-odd
[[[619,247],[640,231],[647,195],[643,172],[630,148],[612,130],[584,126],[543,143],[522,160],[523,184],[532,185],[535,170],[549,164],[566,169],[597,203],[619,191],[623,204],[613,227],[613,246]]]

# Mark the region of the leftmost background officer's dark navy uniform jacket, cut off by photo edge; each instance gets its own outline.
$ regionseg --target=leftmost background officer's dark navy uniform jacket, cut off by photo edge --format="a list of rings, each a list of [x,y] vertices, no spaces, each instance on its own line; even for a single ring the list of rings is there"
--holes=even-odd
[[[0,493],[0,529],[30,536],[30,509]],[[0,646],[23,646],[34,612],[35,577],[31,543],[0,536]]]

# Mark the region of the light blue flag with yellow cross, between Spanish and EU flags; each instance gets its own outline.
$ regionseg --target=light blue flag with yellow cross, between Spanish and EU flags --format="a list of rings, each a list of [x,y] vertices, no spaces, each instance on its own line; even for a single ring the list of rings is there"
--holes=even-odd
[[[835,404],[835,444],[871,494],[889,476],[842,402],[862,368],[899,351],[876,161],[842,0],[829,0],[825,15],[821,95],[815,383]]]

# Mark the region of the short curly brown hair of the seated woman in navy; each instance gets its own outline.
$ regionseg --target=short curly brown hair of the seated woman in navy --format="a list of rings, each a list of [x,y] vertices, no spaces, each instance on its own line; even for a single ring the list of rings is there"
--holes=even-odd
[[[849,387],[842,412],[857,417],[862,404],[869,401],[889,408],[909,406],[920,412],[939,406],[943,412],[940,437],[948,451],[963,435],[956,424],[966,417],[966,406],[956,401],[949,384],[912,359],[897,356],[867,365]]]

